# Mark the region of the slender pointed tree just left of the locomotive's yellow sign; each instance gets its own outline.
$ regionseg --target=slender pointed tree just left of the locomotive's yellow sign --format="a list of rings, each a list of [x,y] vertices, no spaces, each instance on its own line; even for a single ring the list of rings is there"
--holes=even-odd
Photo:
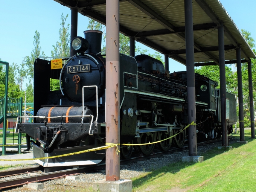
[[[40,44],[40,33],[36,30],[34,35],[34,42],[33,42],[35,48],[32,50],[30,56],[26,56],[24,58],[25,66],[27,69],[27,76],[29,76],[29,81],[34,81],[34,62],[35,59],[38,57],[45,57],[44,52],[41,53],[41,47]]]

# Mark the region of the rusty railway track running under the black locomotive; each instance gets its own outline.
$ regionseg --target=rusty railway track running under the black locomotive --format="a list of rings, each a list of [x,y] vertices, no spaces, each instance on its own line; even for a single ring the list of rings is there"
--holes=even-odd
[[[204,145],[207,143],[217,142],[219,140],[221,140],[221,139],[211,140],[211,141],[207,141],[207,142],[201,142],[201,143],[198,143],[197,145],[200,146],[200,145]],[[129,162],[145,160],[148,158],[155,158],[155,157],[163,155],[163,154],[170,154],[170,153],[174,153],[174,152],[178,152],[178,151],[183,151],[187,148],[188,148],[188,146],[185,145],[182,148],[171,148],[168,151],[159,151],[159,152],[153,152],[150,155],[131,157],[130,159],[120,160],[120,165],[125,165],[126,163],[129,163]],[[33,166],[33,167],[26,167],[26,168],[19,168],[19,169],[4,170],[4,171],[0,171],[0,180],[1,180],[1,178],[11,177],[11,176],[15,176],[15,175],[31,174],[31,173],[34,173],[34,174],[31,174],[31,175],[25,176],[25,177],[21,177],[21,178],[14,178],[14,179],[0,181],[0,189],[22,186],[24,184],[34,183],[34,182],[55,180],[55,179],[65,178],[66,176],[69,176],[69,175],[79,175],[79,174],[97,171],[100,169],[105,169],[105,162],[102,162],[98,165],[93,165],[93,166],[85,166],[85,167],[81,167],[81,168],[72,168],[72,169],[53,171],[53,172],[47,172],[46,170],[44,170],[44,168],[42,166]],[[37,174],[37,172],[39,172],[39,171],[46,171],[46,173]]]

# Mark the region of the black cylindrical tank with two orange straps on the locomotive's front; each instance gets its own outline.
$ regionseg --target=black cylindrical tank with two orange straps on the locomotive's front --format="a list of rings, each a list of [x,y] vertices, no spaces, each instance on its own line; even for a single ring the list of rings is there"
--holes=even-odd
[[[58,116],[81,116],[83,107],[43,107],[37,112],[37,116],[49,117],[48,123],[66,122],[66,123],[80,123],[82,117],[58,117]],[[93,115],[93,112],[85,108],[84,115]],[[50,118],[52,117],[52,118]],[[57,117],[57,118],[56,118]],[[88,123],[91,120],[90,117],[84,117],[84,123]],[[44,118],[37,117],[38,123],[43,123]]]

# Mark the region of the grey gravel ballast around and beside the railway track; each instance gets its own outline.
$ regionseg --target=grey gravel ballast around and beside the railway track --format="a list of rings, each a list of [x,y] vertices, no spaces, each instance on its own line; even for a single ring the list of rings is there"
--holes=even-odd
[[[239,139],[235,137],[230,138],[230,143],[236,143]],[[202,155],[210,149],[216,148],[217,146],[221,146],[221,140],[218,142],[209,143],[206,145],[200,145],[197,148],[197,154]],[[134,177],[138,177],[141,174],[145,174],[145,172],[151,172],[158,168],[168,165],[169,163],[174,163],[181,161],[183,156],[188,155],[188,149],[184,151],[174,152],[172,154],[163,154],[159,157],[148,158],[146,160],[141,160],[137,162],[127,163],[126,165],[120,166],[120,178],[122,179],[131,179]],[[23,174],[22,176],[26,176],[27,174]],[[12,176],[13,178],[20,178],[21,175]],[[1,178],[4,180],[5,178]],[[105,170],[99,170],[93,173],[81,174],[79,175],[79,179],[77,180],[67,180],[65,178],[58,180],[49,180],[45,181],[44,189],[40,189],[38,191],[44,192],[52,192],[52,191],[60,191],[60,192],[80,192],[80,191],[93,191],[92,183],[94,181],[105,179]],[[26,187],[17,187],[12,189],[7,189],[6,191],[10,192],[33,192],[35,190],[29,189]]]

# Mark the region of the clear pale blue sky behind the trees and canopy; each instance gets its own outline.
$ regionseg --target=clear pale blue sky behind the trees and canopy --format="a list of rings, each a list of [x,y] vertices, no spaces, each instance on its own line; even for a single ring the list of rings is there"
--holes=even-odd
[[[251,32],[251,37],[256,40],[256,0],[221,0],[221,3],[238,28]],[[35,30],[40,32],[42,50],[50,56],[52,45],[59,38],[62,12],[64,15],[69,14],[67,22],[70,23],[70,9],[53,0],[0,0],[0,58],[20,64],[34,48]],[[83,31],[87,30],[87,25],[88,18],[78,14],[79,36],[84,36]],[[148,49],[148,53],[155,52],[140,43],[137,45]],[[186,67],[169,59],[169,69],[173,72],[186,70]]]

